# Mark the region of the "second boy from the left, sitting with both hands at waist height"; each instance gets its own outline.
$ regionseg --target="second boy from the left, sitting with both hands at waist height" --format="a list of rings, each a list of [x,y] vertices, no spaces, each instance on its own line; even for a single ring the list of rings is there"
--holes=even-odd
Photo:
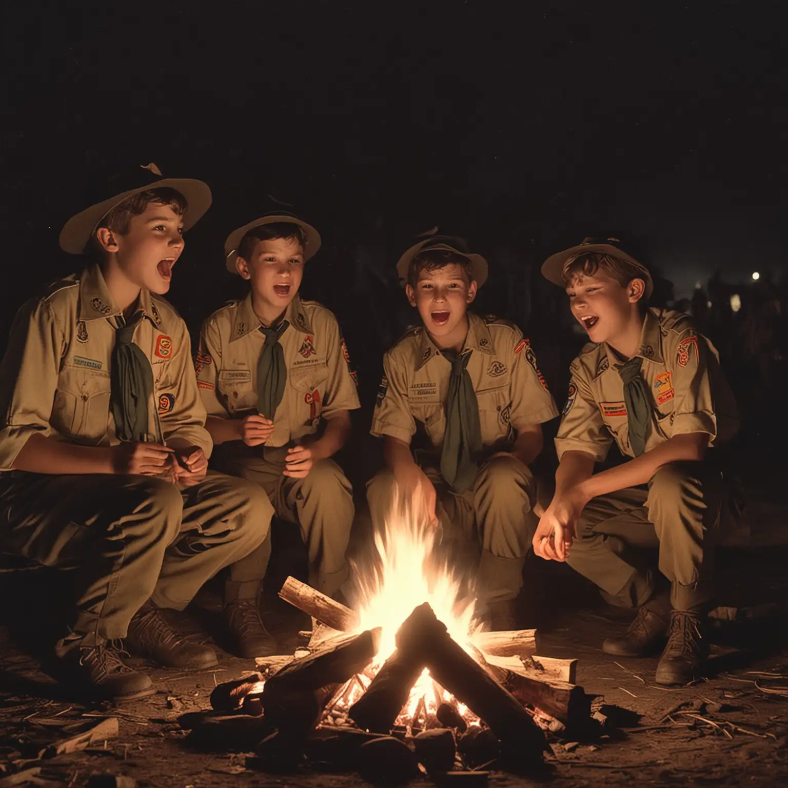
[[[304,263],[319,247],[318,232],[290,214],[230,233],[227,269],[251,292],[203,324],[195,368],[216,444],[212,464],[255,481],[277,516],[300,526],[310,585],[333,596],[348,578],[354,508],[350,482],[329,458],[348,440],[359,397],[336,318],[298,296]],[[239,598],[258,598],[269,555],[266,542],[233,564]]]

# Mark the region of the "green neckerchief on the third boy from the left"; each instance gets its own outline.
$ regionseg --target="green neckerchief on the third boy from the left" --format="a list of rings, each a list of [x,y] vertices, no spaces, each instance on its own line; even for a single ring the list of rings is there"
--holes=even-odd
[[[452,365],[446,400],[446,433],[440,454],[440,473],[456,492],[465,492],[474,484],[481,452],[481,425],[474,384],[466,367],[472,351],[457,354],[443,351]]]

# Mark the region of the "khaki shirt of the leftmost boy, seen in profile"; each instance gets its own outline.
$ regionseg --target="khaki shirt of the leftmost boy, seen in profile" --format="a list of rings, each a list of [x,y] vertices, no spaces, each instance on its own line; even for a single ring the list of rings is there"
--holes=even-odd
[[[143,290],[144,317],[134,343],[151,362],[148,440],[185,440],[210,455],[191,367],[186,324],[159,296]],[[99,266],[51,285],[14,319],[0,366],[0,470],[9,470],[33,433],[85,446],[119,443],[110,411],[110,366],[121,310]]]

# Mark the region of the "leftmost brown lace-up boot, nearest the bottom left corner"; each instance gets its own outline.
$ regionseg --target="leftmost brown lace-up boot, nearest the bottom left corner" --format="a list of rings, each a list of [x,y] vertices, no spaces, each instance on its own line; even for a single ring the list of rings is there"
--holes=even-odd
[[[75,641],[58,653],[52,673],[64,686],[95,700],[128,700],[154,694],[151,677],[128,667],[122,654],[110,641],[94,646]]]

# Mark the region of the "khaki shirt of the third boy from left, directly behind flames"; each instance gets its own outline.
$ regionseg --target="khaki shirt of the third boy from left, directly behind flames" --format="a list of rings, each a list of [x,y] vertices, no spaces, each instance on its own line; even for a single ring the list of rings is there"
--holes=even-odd
[[[481,441],[491,453],[511,446],[517,430],[556,418],[558,409],[516,325],[470,312],[468,321],[467,371],[476,392]],[[383,373],[372,434],[409,444],[421,422],[433,448],[443,448],[452,365],[423,327],[411,329],[386,353]]]

